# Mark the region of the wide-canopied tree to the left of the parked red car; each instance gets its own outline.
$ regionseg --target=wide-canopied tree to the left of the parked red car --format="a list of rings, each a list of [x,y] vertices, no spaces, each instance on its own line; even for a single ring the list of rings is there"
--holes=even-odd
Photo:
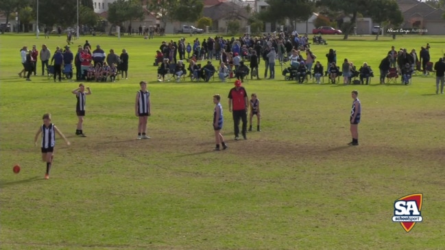
[[[315,10],[314,1],[311,0],[266,0],[266,2],[269,7],[260,14],[260,18],[265,22],[288,19],[293,24],[297,21],[306,21]]]

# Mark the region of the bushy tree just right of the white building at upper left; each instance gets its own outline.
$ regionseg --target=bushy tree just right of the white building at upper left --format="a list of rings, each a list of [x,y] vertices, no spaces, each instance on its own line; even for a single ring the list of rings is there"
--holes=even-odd
[[[111,23],[110,31],[115,26],[121,26],[125,21],[142,20],[144,10],[141,0],[117,0],[108,6],[108,22]]]

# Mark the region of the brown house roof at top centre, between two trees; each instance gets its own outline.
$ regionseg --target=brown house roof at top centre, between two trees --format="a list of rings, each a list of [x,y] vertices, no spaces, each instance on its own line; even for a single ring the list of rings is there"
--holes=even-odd
[[[223,1],[211,7],[204,7],[202,12],[203,16],[207,16],[212,20],[219,20],[226,16],[236,16],[238,18],[245,19],[249,17],[249,14],[245,8],[229,1]]]

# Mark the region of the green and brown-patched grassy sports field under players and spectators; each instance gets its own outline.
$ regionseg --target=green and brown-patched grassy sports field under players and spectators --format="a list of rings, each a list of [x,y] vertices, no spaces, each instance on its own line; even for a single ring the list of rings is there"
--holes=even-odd
[[[71,47],[87,39],[130,55],[128,79],[86,83],[88,137],[77,138],[78,83],[17,75],[21,47],[53,51],[64,37],[0,36],[1,249],[445,248],[445,96],[435,95],[435,77],[378,84],[392,45],[420,51],[429,42],[436,62],[444,37],[326,37],[328,45],[312,47],[317,60],[326,65],[333,48],[338,62],[368,62],[372,84],[300,85],[284,81],[278,65],[275,80],[243,84],[261,100],[263,131],[240,141],[226,99],[232,82],[156,82],[154,52],[178,38],[76,40]],[[261,77],[263,69],[262,61]],[[152,140],[135,140],[141,80],[152,92]],[[346,145],[354,89],[363,105],[359,147]],[[220,152],[212,151],[216,93],[229,146]],[[58,138],[49,180],[33,145],[45,112],[71,141]],[[394,201],[415,192],[424,194],[423,222],[406,233],[392,222]]]

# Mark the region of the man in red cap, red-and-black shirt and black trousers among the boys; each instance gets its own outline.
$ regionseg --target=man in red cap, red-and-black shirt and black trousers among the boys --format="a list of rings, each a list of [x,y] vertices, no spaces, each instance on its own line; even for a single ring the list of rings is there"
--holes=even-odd
[[[244,140],[247,140],[247,136],[245,133],[248,129],[248,93],[245,92],[245,89],[241,87],[241,81],[235,81],[235,87],[232,88],[229,92],[229,112],[233,114],[233,125],[235,132],[235,140],[239,139],[239,120],[243,121],[243,130],[241,134],[243,134]]]

